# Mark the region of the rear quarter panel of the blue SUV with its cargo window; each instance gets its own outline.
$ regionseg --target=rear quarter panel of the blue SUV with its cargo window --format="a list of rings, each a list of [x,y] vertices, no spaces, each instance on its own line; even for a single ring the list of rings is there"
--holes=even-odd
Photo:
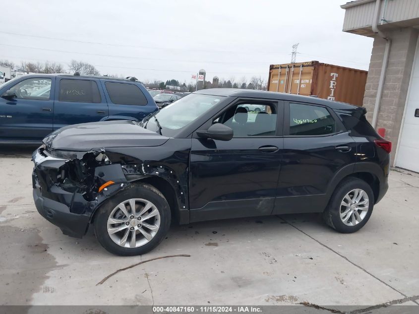
[[[103,87],[109,102],[109,115],[113,119],[135,118],[142,120],[149,113],[157,110],[157,106],[136,83],[103,80]]]

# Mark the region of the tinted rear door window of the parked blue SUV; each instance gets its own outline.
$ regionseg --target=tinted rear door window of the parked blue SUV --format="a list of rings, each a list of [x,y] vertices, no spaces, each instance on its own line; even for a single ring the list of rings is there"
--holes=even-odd
[[[59,101],[100,103],[98,84],[89,79],[61,79]]]

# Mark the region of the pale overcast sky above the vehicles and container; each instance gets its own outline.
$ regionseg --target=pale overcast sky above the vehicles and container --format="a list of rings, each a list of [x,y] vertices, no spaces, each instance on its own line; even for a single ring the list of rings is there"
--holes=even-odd
[[[261,75],[269,64],[368,69],[372,39],[342,32],[345,0],[3,0],[0,59],[72,59],[102,74],[191,81]],[[13,34],[11,34],[13,33]]]

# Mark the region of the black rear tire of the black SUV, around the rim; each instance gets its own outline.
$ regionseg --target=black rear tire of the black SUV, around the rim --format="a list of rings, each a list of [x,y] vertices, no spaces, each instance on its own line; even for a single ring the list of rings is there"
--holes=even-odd
[[[351,190],[360,188],[366,192],[369,199],[368,210],[365,217],[361,220],[360,223],[355,226],[348,226],[343,223],[340,218],[341,214],[341,202],[344,196],[349,193]],[[374,208],[374,193],[372,192],[371,187],[363,180],[350,177],[344,179],[335,189],[330,198],[329,204],[325,211],[323,212],[324,222],[332,227],[333,229],[341,233],[353,233],[361,229],[371,217],[372,210]]]

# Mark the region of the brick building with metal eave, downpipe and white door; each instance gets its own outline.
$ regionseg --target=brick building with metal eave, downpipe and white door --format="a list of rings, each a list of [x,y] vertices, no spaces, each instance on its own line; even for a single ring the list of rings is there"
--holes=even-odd
[[[356,0],[343,31],[374,38],[363,107],[392,141],[392,166],[419,172],[419,0]]]

